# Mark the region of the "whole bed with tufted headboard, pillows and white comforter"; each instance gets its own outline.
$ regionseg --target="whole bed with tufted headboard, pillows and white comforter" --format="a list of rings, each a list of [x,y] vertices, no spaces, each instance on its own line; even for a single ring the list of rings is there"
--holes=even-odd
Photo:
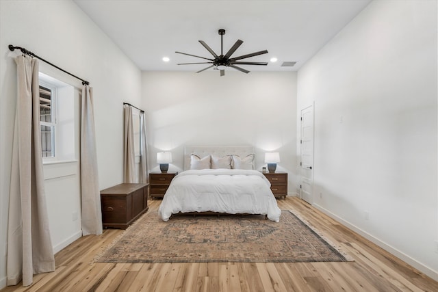
[[[254,170],[252,146],[186,146],[184,171],[158,212],[164,221],[177,213],[261,214],[274,222],[281,215],[268,179]]]

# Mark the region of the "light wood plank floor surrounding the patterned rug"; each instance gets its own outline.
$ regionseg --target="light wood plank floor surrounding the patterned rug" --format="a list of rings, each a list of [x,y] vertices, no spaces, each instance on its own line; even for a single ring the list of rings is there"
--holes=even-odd
[[[438,291],[438,282],[298,198],[280,209],[305,217],[355,259],[349,263],[92,263],[121,230],[78,239],[55,255],[56,271],[6,291]],[[160,200],[149,201],[157,210]]]

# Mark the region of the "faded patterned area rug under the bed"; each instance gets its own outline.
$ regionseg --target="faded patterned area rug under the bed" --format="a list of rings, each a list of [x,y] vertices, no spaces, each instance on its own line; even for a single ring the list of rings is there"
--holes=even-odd
[[[263,215],[140,217],[102,254],[99,263],[350,261],[290,211],[280,222]]]

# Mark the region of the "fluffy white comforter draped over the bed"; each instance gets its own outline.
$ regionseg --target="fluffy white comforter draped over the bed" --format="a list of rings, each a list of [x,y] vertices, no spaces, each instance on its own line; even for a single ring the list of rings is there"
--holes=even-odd
[[[249,213],[280,221],[270,182],[257,170],[187,170],[175,178],[160,204],[164,221],[179,212]]]

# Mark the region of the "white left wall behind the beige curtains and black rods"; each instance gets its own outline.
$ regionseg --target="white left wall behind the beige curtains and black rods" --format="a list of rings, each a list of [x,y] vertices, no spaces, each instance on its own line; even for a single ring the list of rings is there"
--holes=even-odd
[[[10,157],[16,103],[16,66],[12,58],[16,53],[9,51],[8,44],[25,47],[53,64],[90,81],[94,88],[94,118],[101,189],[123,181],[123,101],[139,105],[142,85],[140,70],[73,1],[1,0],[0,36],[1,288],[5,285]],[[68,77],[49,66],[46,66],[46,70],[46,73],[55,75],[53,77],[57,79],[81,87],[80,81],[73,77]],[[64,179],[66,181],[62,181]],[[68,176],[60,180],[47,181],[47,205],[50,208],[50,228],[55,250],[71,241],[77,232],[80,232],[80,226],[72,224],[73,213],[79,212],[80,216],[76,204],[78,191],[64,190],[66,183],[75,184],[71,182],[75,180],[77,178],[74,176]]]

